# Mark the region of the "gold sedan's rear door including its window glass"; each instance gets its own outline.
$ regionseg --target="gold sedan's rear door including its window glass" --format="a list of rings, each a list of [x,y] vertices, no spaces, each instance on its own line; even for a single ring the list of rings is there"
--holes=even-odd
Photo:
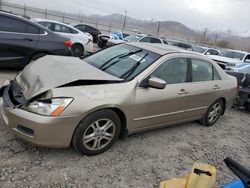
[[[191,58],[192,82],[187,104],[188,117],[201,117],[208,107],[220,97],[222,80],[212,63]]]

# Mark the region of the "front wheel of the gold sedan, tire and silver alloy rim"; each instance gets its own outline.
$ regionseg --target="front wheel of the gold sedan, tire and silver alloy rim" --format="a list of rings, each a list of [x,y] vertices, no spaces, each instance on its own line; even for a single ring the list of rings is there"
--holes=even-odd
[[[84,118],[75,130],[72,144],[83,155],[97,155],[118,139],[121,121],[112,110],[100,110]]]

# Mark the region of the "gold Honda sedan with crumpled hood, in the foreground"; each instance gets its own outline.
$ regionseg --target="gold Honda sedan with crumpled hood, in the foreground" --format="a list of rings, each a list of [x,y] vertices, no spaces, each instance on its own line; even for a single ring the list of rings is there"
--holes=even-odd
[[[99,154],[120,136],[199,120],[216,123],[237,81],[203,55],[120,44],[84,60],[45,56],[0,90],[1,116],[37,145]]]

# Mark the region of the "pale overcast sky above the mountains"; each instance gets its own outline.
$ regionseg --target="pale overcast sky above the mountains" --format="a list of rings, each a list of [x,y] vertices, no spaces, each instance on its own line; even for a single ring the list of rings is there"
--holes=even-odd
[[[85,15],[124,14],[139,19],[178,21],[202,30],[250,32],[250,0],[5,0]]]

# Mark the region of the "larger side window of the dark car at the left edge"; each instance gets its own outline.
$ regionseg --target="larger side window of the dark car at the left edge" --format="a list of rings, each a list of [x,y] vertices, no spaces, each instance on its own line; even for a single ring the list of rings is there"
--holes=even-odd
[[[26,30],[27,23],[7,16],[0,16],[0,31],[26,33]]]

